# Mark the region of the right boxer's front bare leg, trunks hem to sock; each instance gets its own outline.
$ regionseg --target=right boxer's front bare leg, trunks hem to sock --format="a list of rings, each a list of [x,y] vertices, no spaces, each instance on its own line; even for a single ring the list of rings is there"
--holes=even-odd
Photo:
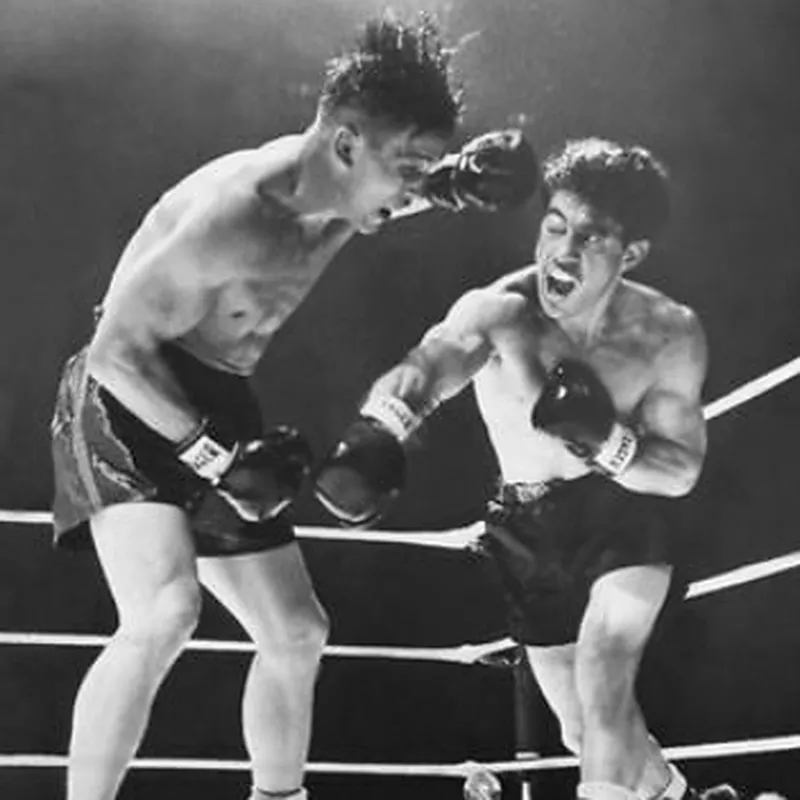
[[[611,784],[653,797],[670,780],[634,694],[670,578],[667,566],[628,567],[604,575],[592,588],[575,658],[583,783]]]

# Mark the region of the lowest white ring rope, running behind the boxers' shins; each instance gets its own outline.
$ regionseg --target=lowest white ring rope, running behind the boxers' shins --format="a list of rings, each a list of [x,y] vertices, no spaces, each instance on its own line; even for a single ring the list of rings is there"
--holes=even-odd
[[[734,756],[779,753],[800,750],[800,735],[771,736],[762,739],[742,739],[735,742],[712,742],[665,747],[664,756],[672,761],[691,761],[706,758],[730,758]],[[66,767],[68,758],[50,754],[0,755],[1,767]],[[520,759],[515,761],[481,762],[480,766],[495,773],[540,772],[544,770],[570,769],[578,765],[575,756]],[[249,761],[233,761],[203,758],[137,758],[131,762],[135,769],[153,770],[214,770],[246,772],[252,768]],[[379,764],[311,762],[307,772],[339,775],[397,775],[417,777],[464,778],[474,769],[475,762],[460,764]]]

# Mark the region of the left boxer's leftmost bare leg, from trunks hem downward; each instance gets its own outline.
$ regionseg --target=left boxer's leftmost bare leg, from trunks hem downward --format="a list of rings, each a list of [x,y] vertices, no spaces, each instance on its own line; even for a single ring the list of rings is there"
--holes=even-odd
[[[119,627],[75,702],[67,796],[111,800],[144,735],[164,676],[200,611],[194,547],[183,512],[129,503],[92,519]]]

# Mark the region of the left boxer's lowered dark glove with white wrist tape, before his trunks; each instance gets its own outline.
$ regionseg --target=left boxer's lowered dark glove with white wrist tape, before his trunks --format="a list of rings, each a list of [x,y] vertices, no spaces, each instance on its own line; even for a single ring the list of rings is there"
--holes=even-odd
[[[176,448],[178,459],[207,480],[246,522],[275,517],[297,496],[311,470],[311,448],[294,428],[226,446],[204,420]]]

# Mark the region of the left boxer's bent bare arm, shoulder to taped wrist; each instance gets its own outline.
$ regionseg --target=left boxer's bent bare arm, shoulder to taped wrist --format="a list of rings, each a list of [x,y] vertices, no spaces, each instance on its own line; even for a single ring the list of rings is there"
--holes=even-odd
[[[199,424],[160,347],[195,327],[212,300],[218,232],[214,200],[198,201],[145,248],[129,248],[89,347],[90,374],[162,436],[178,442]],[[156,223],[157,224],[157,223]]]

